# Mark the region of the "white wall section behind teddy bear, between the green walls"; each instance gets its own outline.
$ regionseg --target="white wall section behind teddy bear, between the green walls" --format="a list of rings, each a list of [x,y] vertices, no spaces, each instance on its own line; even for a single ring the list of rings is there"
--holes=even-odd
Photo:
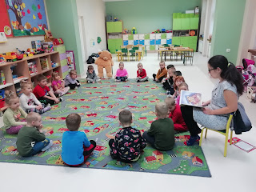
[[[98,50],[106,50],[106,22],[105,2],[102,0],[77,0],[78,16],[84,20],[84,43],[86,59]],[[97,38],[102,42],[98,44]],[[95,45],[90,46],[90,39],[94,39]]]

